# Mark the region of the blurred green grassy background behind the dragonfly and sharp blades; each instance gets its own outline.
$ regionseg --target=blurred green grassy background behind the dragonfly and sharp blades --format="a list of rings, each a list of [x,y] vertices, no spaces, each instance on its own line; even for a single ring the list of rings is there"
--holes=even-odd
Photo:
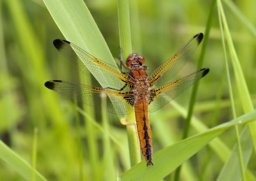
[[[113,57],[117,58],[119,36],[116,1],[84,2],[92,13]],[[232,1],[232,3],[237,6],[237,11],[241,11],[246,20],[255,26],[256,1]],[[196,33],[204,33],[210,4],[211,1],[196,0],[130,1],[132,51],[145,57],[149,74],[167,61]],[[232,11],[225,3],[224,10],[251,99],[255,105],[255,34],[236,16],[236,11]],[[79,82],[77,69],[70,67],[52,45],[54,39],[63,38],[63,35],[45,8],[44,2],[2,0],[0,11],[1,140],[31,164],[36,128],[36,170],[45,178],[49,180],[108,178],[106,176],[108,173],[104,172],[102,164],[104,155],[102,131],[94,124],[90,125],[94,136],[93,138],[88,136],[88,122],[84,122],[80,117],[80,126],[77,126],[76,108],[72,101],[61,98],[56,92],[44,87],[44,83],[52,79]],[[200,50],[201,48],[198,48],[192,60],[180,71],[179,76],[196,70]],[[205,52],[204,67],[210,68],[211,71],[200,81],[194,115],[208,127],[214,127],[233,119],[216,9]],[[241,115],[243,114],[241,100],[237,96],[231,66],[230,73],[231,82],[234,83],[232,86],[236,113]],[[191,89],[175,101],[188,108],[190,94]],[[108,117],[111,120],[109,130],[118,140],[118,144],[111,143],[113,152],[109,154],[112,154],[115,171],[120,174],[130,167],[127,133],[125,126],[120,123],[116,115],[108,114]],[[101,124],[99,113],[95,115],[95,120]],[[150,123],[154,152],[182,138],[184,117],[172,105],[150,113]],[[189,135],[195,133],[196,131],[191,129]],[[230,148],[236,143],[234,129],[221,134],[220,138]],[[90,146],[92,142],[95,145]],[[256,174],[255,159],[253,152],[248,168],[252,173],[254,170],[254,174]],[[222,166],[220,159],[206,146],[185,164],[180,180],[215,180]],[[166,180],[170,179],[172,175],[166,177]],[[1,161],[0,180],[23,180],[23,178],[7,163]]]

